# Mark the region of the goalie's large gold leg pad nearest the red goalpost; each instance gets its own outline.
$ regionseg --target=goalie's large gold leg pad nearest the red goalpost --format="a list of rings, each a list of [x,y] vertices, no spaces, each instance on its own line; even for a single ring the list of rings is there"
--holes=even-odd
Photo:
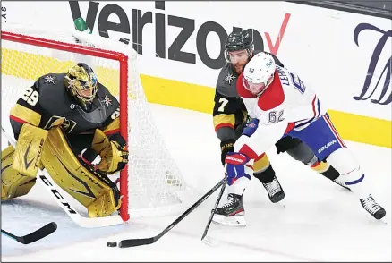
[[[115,183],[107,175],[81,165],[58,127],[48,133],[42,163],[58,186],[88,208],[89,217],[110,216],[120,208]]]

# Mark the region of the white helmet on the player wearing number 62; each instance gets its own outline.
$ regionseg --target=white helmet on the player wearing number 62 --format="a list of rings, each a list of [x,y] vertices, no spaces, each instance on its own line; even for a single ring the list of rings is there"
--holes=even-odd
[[[254,95],[260,94],[274,80],[276,68],[272,55],[264,52],[254,55],[243,70],[243,86]]]

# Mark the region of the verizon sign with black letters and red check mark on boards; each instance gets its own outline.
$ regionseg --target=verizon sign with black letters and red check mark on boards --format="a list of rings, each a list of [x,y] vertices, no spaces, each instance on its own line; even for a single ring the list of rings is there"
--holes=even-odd
[[[132,47],[140,55],[143,55],[143,45],[146,40],[150,41],[151,39],[143,39],[143,35],[145,35],[143,31],[147,27],[151,27],[153,29],[152,37],[154,38],[155,54],[157,57],[187,64],[196,64],[196,56],[198,56],[202,64],[214,70],[222,68],[226,63],[223,48],[227,35],[232,30],[244,30],[239,25],[234,24],[227,31],[227,24],[222,25],[219,21],[196,20],[193,17],[184,17],[179,14],[166,15],[162,13],[165,11],[166,6],[163,1],[156,2],[153,11],[139,10],[136,8],[132,8],[132,10],[125,9],[129,10],[129,13],[126,13],[122,7],[122,5],[125,6],[128,3],[99,4],[99,2],[89,2],[87,13],[81,13],[81,4],[84,4],[83,2],[70,1],[69,4],[73,20],[83,17],[89,28],[93,32],[98,32],[101,37],[111,38],[109,31],[122,33],[124,38],[119,38],[118,40],[125,43],[129,43],[132,40]],[[172,3],[172,8],[169,12],[173,11],[173,7],[176,4]],[[132,3],[129,5],[132,5]],[[152,7],[153,3],[149,5]],[[119,21],[109,21],[108,18],[110,16],[118,17]],[[280,29],[277,32],[273,32],[273,34],[263,31],[260,32],[259,28],[253,29],[255,48],[264,50],[264,43],[267,43],[268,50],[277,54],[289,20],[290,13],[285,13],[280,24]],[[175,31],[178,33],[175,33]],[[218,40],[214,42],[209,41],[209,45],[213,45],[213,47],[208,47],[207,45],[209,34],[215,34]],[[166,41],[168,35],[174,36],[174,38]],[[272,39],[271,35],[277,37]],[[192,45],[192,52],[183,51],[183,47],[187,43]],[[208,49],[219,50],[219,52],[217,55],[209,55]]]

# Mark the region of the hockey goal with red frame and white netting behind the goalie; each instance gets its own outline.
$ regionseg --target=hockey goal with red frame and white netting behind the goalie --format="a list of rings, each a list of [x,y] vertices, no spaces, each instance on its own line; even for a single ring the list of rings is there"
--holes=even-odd
[[[11,107],[39,76],[66,72],[78,62],[89,64],[98,81],[120,101],[120,132],[130,151],[128,168],[119,175],[120,216],[124,221],[130,214],[160,216],[187,205],[192,188],[158,133],[132,47],[78,30],[40,30],[20,24],[2,24],[1,38],[2,120],[9,119]],[[12,132],[9,122],[2,125]]]

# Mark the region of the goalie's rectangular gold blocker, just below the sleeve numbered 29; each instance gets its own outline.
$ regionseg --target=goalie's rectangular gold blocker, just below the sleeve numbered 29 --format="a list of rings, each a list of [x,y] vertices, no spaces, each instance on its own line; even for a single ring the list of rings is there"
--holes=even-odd
[[[46,130],[24,123],[16,144],[13,169],[23,175],[36,177],[46,139]]]

